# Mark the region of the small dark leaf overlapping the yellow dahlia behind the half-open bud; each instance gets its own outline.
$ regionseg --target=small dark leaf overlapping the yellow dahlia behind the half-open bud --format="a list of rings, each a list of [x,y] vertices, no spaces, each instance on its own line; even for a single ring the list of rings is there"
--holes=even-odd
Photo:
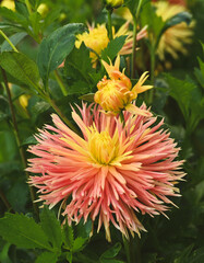
[[[123,47],[127,39],[127,35],[121,35],[108,43],[108,46],[101,52],[101,59],[109,62],[109,59],[112,60],[120,49]]]

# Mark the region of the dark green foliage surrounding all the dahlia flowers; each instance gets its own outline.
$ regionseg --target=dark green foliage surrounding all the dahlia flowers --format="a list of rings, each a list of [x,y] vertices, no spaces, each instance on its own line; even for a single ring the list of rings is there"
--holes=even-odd
[[[27,163],[22,162],[22,152],[25,160],[34,158],[27,148],[37,144],[34,135],[38,128],[52,125],[50,114],[57,113],[63,122],[67,118],[75,125],[70,105],[76,108],[75,103],[81,105],[82,100],[94,101],[97,83],[107,75],[101,59],[113,64],[128,36],[110,41],[93,64],[89,57],[93,50],[84,43],[76,48],[75,38],[84,32],[87,21],[95,25],[107,22],[101,1],[19,0],[15,11],[0,8],[0,30],[20,50],[13,52],[0,36],[0,67],[8,78],[20,134],[17,139],[0,70],[1,263],[204,262],[204,2],[185,2],[189,12],[178,13],[166,22],[157,16],[151,0],[125,0],[123,4],[136,19],[137,31],[148,25],[148,36],[136,43],[136,79],[132,83],[149,71],[152,79],[146,83],[155,88],[152,100],[149,92],[145,92],[139,94],[136,103],[145,101],[158,119],[165,117],[164,128],[169,129],[181,148],[178,159],[185,160],[187,172],[185,182],[178,185],[182,196],[170,197],[179,209],[171,207],[166,211],[170,220],[161,215],[151,218],[136,213],[147,232],[141,232],[141,239],[130,237],[128,247],[111,224],[112,242],[108,243],[104,227],[97,233],[97,222],[89,218],[86,224],[82,219],[72,226],[67,217],[59,215],[57,219],[58,209],[63,213],[65,204],[59,203],[52,209],[45,206],[38,218],[25,175]],[[47,13],[39,13],[40,3],[46,4]],[[137,13],[139,3],[142,5]],[[112,13],[116,32],[125,22],[117,10]],[[195,27],[193,43],[185,46],[189,54],[178,54],[178,60],[166,56],[159,61],[156,52],[160,36],[169,27],[181,22],[189,24],[191,20],[195,21]],[[129,30],[132,28],[130,23]],[[131,78],[131,54],[120,58],[120,69],[125,68],[125,75]],[[64,66],[59,68],[63,61]],[[35,198],[39,195],[36,193]]]

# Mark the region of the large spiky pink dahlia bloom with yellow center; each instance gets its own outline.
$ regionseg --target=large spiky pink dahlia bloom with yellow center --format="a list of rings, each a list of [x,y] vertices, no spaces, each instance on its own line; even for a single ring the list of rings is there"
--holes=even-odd
[[[127,238],[129,230],[140,235],[144,227],[136,214],[164,214],[172,204],[168,196],[179,196],[175,184],[184,175],[182,161],[175,160],[179,148],[156,117],[125,112],[121,123],[97,105],[79,110],[72,117],[82,137],[55,114],[56,127],[39,130],[38,144],[29,147],[37,157],[27,168],[38,175],[29,183],[50,208],[62,202],[70,225],[89,217],[98,222],[97,231],[104,225],[109,241],[110,224]]]

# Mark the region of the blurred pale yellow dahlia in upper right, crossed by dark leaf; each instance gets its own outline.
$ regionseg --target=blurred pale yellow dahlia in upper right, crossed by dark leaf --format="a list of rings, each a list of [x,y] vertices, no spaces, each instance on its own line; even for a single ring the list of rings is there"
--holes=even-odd
[[[183,5],[170,4],[165,1],[158,1],[154,3],[156,7],[157,15],[161,16],[163,21],[167,21],[180,12],[187,11]],[[170,54],[175,59],[177,59],[178,53],[187,54],[188,49],[184,44],[192,43],[194,21],[188,25],[184,22],[169,27],[161,36],[157,54],[160,60],[165,59],[165,54]]]

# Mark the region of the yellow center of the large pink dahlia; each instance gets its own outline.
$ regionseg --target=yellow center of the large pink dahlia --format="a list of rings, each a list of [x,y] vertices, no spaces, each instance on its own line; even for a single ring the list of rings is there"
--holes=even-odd
[[[95,163],[111,164],[118,155],[116,145],[116,137],[111,138],[108,130],[98,133],[95,127],[91,127],[88,148]]]

